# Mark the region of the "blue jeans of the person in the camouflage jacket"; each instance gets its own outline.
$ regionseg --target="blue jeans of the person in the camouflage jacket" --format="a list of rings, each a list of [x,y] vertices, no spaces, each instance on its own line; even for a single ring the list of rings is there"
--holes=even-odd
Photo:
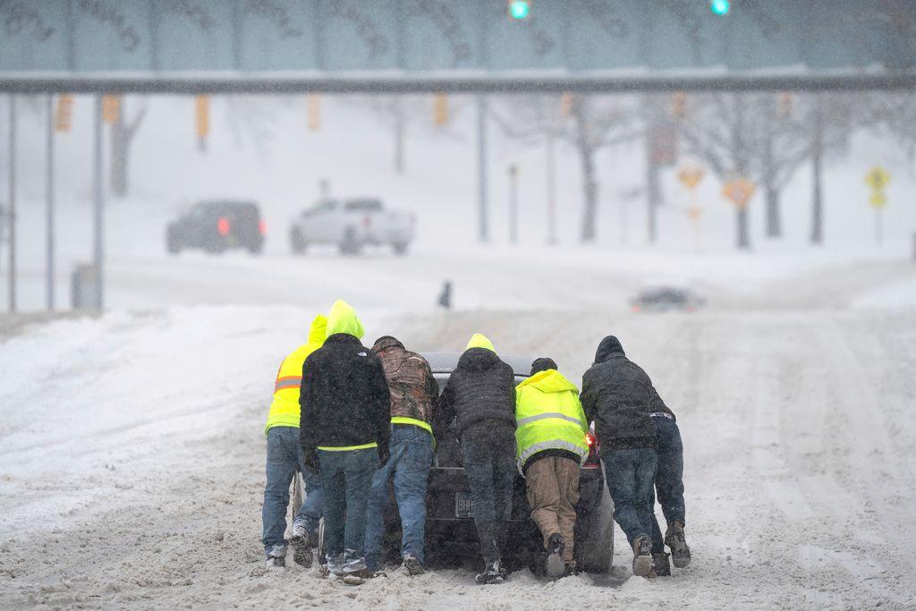
[[[432,466],[432,436],[412,424],[392,424],[391,457],[372,478],[369,514],[365,522],[365,563],[374,571],[383,561],[382,536],[388,504],[388,482],[394,475],[395,499],[401,518],[401,556],[424,561],[426,485]]]

